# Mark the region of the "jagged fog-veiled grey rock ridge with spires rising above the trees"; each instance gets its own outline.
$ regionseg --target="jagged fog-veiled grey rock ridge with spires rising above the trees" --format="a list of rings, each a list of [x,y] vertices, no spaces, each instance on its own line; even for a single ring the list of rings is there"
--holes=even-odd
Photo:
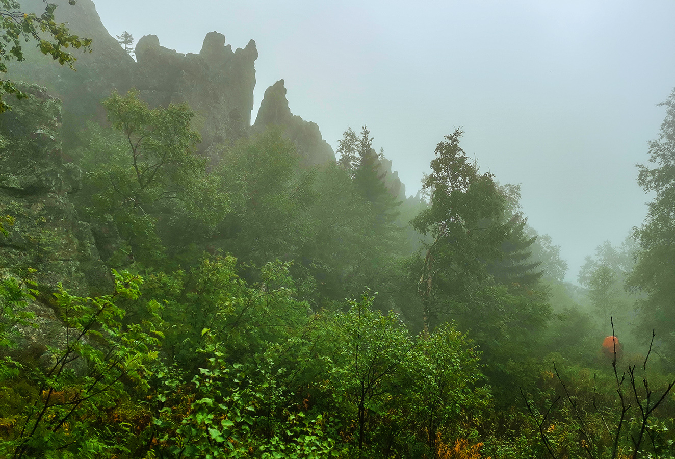
[[[68,22],[71,32],[93,39],[92,52],[75,51],[77,72],[62,68],[26,47],[27,59],[12,65],[10,78],[36,82],[46,86],[51,94],[63,100],[65,137],[73,138],[78,126],[86,119],[105,120],[101,99],[113,90],[124,93],[132,87],[151,106],[188,103],[196,112],[195,126],[202,134],[200,151],[248,135],[251,128],[255,66],[258,51],[254,41],[243,49],[233,50],[225,36],[209,32],[198,54],[178,53],[160,45],[159,38],[147,35],[136,45],[134,61],[103,26],[92,0],[53,0],[59,6],[56,19]],[[22,7],[31,11],[44,10],[41,0],[22,0]],[[278,83],[277,83],[278,84]],[[286,89],[271,86],[276,95]],[[281,101],[281,99],[279,99]],[[265,107],[283,107],[283,101],[267,101]],[[288,112],[288,113],[286,113]],[[267,115],[265,115],[267,113]],[[332,148],[321,138],[316,124],[292,115],[286,101],[286,111],[266,111],[257,128],[268,124],[281,125],[284,132],[298,145],[306,165],[335,161]]]

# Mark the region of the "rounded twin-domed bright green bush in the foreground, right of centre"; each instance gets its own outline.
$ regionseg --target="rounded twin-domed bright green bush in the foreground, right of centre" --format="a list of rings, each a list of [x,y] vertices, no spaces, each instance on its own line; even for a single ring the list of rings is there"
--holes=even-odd
[[[352,457],[418,457],[433,454],[438,439],[440,447],[470,435],[489,402],[470,342],[452,325],[413,339],[398,315],[373,310],[373,300],[365,292],[348,311],[317,317],[307,333],[315,372],[298,380],[307,381],[304,402],[333,416]]]

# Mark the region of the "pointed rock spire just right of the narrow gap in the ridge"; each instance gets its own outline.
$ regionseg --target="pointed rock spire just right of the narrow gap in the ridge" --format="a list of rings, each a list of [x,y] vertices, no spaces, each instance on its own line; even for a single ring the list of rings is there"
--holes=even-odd
[[[335,162],[333,148],[323,140],[319,126],[291,113],[286,99],[284,80],[279,80],[265,90],[254,130],[279,126],[298,147],[301,164],[305,167]]]

